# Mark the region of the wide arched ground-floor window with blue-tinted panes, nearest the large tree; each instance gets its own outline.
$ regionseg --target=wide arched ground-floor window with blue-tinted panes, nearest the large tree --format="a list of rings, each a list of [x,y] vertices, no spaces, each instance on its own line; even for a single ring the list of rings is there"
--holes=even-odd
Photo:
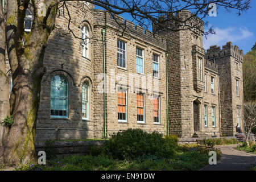
[[[60,75],[51,81],[51,117],[68,117],[68,81]]]

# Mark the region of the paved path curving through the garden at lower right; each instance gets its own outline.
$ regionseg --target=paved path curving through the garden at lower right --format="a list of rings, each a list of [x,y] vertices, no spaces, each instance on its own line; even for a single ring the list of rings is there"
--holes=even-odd
[[[200,171],[246,171],[256,162],[256,156],[234,150],[236,144],[229,146],[216,146],[220,148],[222,155],[216,165],[209,165]]]

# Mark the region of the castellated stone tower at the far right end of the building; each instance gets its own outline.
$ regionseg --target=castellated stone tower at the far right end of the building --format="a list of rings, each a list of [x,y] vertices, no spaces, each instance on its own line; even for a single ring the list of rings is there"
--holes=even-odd
[[[220,75],[220,104],[222,135],[233,136],[236,126],[242,125],[243,104],[243,51],[232,42],[227,42],[222,49],[210,46],[206,57],[212,63],[218,64]]]

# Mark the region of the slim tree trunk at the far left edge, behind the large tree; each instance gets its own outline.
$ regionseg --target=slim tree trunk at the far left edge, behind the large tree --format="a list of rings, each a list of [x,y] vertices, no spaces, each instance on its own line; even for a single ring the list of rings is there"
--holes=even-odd
[[[2,2],[0,2],[0,164],[3,164],[3,134],[5,126],[2,120],[10,114],[9,104],[9,80],[5,67],[5,20],[3,16]]]

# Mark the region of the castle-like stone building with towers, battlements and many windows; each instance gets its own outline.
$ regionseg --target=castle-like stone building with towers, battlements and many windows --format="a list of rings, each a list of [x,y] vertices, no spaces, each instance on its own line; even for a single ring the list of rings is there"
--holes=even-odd
[[[203,26],[172,32],[153,24],[150,32],[79,3],[86,11],[69,6],[77,38],[59,16],[48,39],[36,140],[104,138],[129,128],[220,137],[242,126],[243,52],[232,42],[205,52]],[[28,33],[31,22],[27,16]]]

